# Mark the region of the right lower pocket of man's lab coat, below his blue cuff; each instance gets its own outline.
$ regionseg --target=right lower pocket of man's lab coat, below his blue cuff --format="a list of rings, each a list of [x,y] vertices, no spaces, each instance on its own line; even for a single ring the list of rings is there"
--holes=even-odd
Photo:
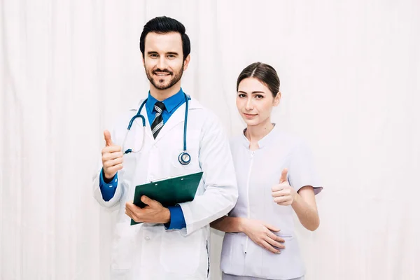
[[[200,264],[202,231],[197,230],[183,236],[179,230],[167,231],[162,235],[160,264],[167,272],[174,274],[194,274]]]

